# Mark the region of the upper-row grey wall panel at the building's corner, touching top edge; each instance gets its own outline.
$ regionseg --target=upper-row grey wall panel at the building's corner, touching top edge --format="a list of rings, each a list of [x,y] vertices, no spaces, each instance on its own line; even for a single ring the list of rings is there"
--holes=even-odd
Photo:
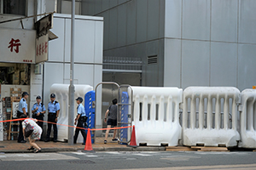
[[[181,38],[182,1],[167,0],[165,16],[165,37]]]

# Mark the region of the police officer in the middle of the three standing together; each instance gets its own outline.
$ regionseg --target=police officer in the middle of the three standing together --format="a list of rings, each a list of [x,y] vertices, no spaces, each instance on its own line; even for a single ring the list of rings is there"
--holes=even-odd
[[[44,113],[45,113],[46,109],[44,107],[44,104],[41,103],[41,96],[38,95],[36,99],[37,99],[37,103],[35,103],[32,106],[32,118],[40,120],[40,121],[38,121],[38,126],[41,127],[43,130],[44,122],[42,122],[42,121],[44,121]],[[41,134],[40,141],[43,141],[43,133],[44,133],[44,131]]]

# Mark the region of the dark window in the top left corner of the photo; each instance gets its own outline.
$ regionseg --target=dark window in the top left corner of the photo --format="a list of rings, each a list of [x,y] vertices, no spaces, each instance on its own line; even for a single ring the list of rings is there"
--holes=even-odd
[[[26,0],[0,0],[1,14],[26,15]]]

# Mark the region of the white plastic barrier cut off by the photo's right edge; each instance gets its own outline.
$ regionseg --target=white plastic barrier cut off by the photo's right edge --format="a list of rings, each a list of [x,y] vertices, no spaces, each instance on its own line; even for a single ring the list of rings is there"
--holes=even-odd
[[[240,147],[256,148],[256,90],[241,92],[241,142]]]

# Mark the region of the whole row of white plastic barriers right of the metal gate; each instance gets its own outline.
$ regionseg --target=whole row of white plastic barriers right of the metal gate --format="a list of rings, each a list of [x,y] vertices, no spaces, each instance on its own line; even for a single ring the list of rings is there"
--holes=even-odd
[[[131,88],[137,144],[256,148],[256,90]]]

